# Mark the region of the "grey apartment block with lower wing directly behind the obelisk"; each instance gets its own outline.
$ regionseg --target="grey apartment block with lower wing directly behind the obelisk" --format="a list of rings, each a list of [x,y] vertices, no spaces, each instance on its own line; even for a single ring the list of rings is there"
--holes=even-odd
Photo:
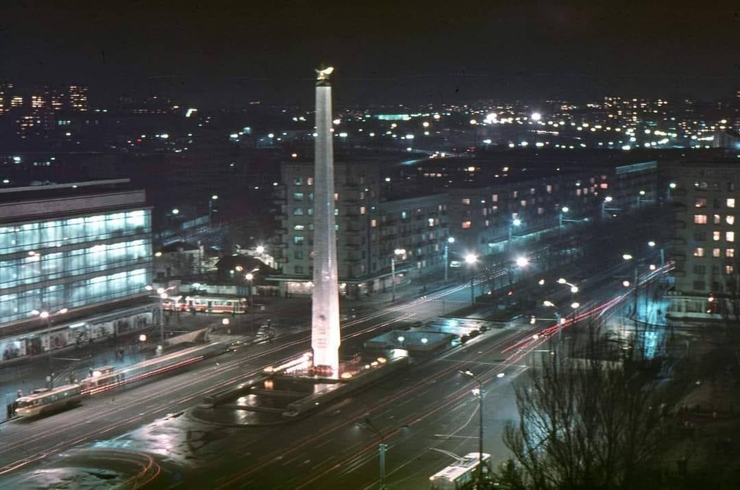
[[[282,223],[275,262],[283,273],[274,279],[284,294],[308,294],[313,273],[313,165],[285,163],[277,186]],[[380,196],[380,163],[335,163],[337,262],[340,293],[354,297],[391,284],[391,256],[406,253],[403,268],[426,272],[441,263],[447,237],[446,199],[388,200]],[[382,202],[383,201],[383,202]],[[398,258],[397,258],[398,259]]]

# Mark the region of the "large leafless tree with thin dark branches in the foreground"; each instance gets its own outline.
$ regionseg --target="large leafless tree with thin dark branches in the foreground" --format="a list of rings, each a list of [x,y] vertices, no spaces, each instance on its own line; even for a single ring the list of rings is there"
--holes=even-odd
[[[579,347],[568,346],[572,352]],[[635,489],[656,460],[660,410],[655,361],[591,337],[581,359],[563,349],[515,386],[519,422],[504,443],[533,489]],[[621,355],[628,352],[628,355]]]

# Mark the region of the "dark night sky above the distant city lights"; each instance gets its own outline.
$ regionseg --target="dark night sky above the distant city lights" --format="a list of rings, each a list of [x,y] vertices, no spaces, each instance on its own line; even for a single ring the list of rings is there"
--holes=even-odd
[[[309,104],[320,61],[340,104],[740,87],[737,2],[217,3],[5,1],[0,77],[88,84],[93,103],[159,91],[212,106]]]

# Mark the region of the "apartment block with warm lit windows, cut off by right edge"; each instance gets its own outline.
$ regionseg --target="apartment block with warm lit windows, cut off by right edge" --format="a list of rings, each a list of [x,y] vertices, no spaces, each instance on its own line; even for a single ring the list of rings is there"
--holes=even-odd
[[[735,162],[674,163],[669,204],[675,262],[667,316],[721,320],[738,307],[740,167]]]

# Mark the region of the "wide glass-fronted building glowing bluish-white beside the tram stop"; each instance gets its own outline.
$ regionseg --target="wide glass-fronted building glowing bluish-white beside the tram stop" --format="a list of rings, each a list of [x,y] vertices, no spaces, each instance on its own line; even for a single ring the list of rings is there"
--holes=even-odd
[[[119,333],[120,320],[98,327],[84,313],[147,300],[151,237],[144,191],[89,183],[0,192],[0,361]],[[145,310],[123,330],[153,324]],[[64,330],[70,324],[77,330]]]

